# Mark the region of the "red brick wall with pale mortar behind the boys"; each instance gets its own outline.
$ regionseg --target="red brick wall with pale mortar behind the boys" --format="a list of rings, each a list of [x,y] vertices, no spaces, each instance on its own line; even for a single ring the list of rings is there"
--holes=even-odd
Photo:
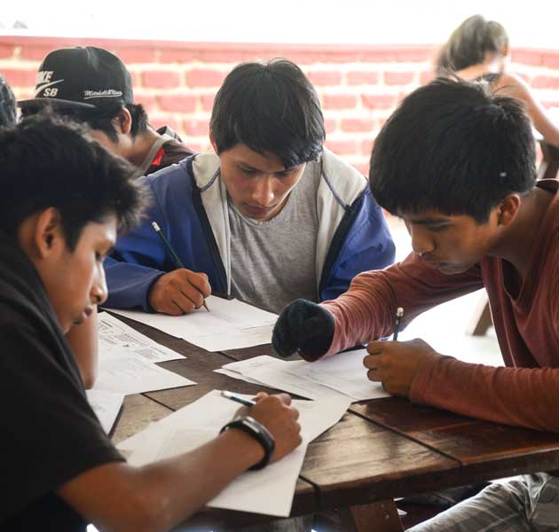
[[[319,92],[327,146],[364,173],[374,137],[398,101],[431,77],[436,46],[242,44],[0,37],[0,71],[17,98],[29,98],[43,56],[94,44],[129,67],[136,99],[155,126],[168,124],[197,150],[209,149],[214,95],[236,63],[285,57],[302,66]],[[545,106],[559,106],[559,51],[516,49],[511,70],[523,74]]]

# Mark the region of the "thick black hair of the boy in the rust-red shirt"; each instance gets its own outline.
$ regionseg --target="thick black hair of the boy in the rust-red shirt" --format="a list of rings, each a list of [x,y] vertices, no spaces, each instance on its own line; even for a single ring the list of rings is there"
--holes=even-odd
[[[531,122],[487,83],[437,78],[398,106],[374,141],[369,180],[392,214],[436,210],[485,223],[536,179]]]

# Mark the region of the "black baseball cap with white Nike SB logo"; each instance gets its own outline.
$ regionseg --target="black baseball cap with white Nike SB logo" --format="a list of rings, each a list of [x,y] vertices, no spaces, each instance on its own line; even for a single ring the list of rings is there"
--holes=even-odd
[[[109,101],[133,104],[130,72],[110,51],[95,46],[76,46],[51,51],[44,59],[35,85],[35,98],[18,106],[51,103],[94,108]]]

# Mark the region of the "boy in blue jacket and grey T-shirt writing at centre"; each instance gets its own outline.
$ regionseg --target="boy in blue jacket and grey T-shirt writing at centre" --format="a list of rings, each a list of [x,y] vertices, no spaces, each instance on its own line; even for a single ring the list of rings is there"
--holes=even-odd
[[[297,297],[335,298],[393,262],[382,209],[323,146],[319,98],[294,63],[233,68],[209,129],[215,153],[142,178],[152,207],[106,261],[110,306],[179,315],[213,290],[277,312]]]

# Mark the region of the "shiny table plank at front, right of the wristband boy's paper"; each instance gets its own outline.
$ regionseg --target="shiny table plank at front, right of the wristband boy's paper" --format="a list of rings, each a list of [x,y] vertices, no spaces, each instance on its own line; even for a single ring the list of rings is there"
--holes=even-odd
[[[301,476],[320,508],[359,505],[434,489],[460,464],[394,431],[348,413],[311,442]]]

